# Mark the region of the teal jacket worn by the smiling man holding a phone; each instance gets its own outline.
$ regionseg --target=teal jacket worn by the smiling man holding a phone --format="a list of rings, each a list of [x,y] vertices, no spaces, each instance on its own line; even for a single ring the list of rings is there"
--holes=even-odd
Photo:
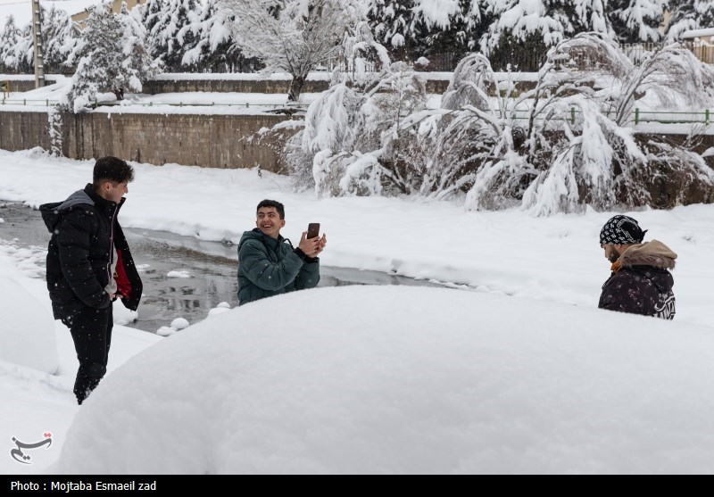
[[[320,259],[306,257],[290,240],[245,231],[238,243],[238,305],[294,290],[314,288],[320,281]]]

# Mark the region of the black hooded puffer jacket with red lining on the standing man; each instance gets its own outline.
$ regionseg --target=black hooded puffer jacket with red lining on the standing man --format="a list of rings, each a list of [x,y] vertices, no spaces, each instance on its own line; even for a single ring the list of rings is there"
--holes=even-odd
[[[104,199],[88,184],[64,202],[40,206],[42,219],[52,233],[46,279],[50,300],[56,306],[79,310],[110,305],[104,287],[111,276],[113,243],[120,262],[114,273],[117,292],[123,295],[121,302],[128,309],[137,310],[142,282],[117,220],[123,203],[123,198],[119,204]]]

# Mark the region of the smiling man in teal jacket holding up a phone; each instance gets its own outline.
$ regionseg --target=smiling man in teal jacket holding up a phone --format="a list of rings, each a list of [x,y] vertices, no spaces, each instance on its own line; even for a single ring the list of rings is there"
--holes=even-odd
[[[305,231],[293,248],[280,235],[285,207],[275,200],[258,204],[255,226],[244,232],[238,244],[238,305],[318,285],[318,254],[327,244],[324,234],[308,239]]]

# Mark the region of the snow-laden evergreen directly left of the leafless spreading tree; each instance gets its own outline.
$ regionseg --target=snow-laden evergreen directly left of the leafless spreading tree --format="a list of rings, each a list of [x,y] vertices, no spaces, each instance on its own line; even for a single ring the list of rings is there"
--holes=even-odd
[[[231,25],[236,22],[235,15],[220,9],[218,3],[219,0],[206,0],[197,22],[183,28],[192,30],[195,46],[186,51],[181,65],[199,72],[257,70],[260,62],[255,59],[246,60],[233,41]]]

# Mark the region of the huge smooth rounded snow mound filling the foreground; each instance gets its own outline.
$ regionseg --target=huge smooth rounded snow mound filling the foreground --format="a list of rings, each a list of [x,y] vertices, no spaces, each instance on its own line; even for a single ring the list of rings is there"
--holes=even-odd
[[[710,473],[706,327],[503,295],[319,288],[157,343],[58,472]]]

